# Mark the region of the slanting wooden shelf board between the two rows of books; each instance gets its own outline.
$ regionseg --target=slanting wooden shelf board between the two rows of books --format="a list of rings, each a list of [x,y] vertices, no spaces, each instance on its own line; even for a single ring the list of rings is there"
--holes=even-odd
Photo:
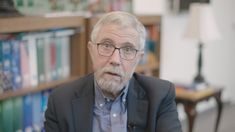
[[[16,91],[6,91],[6,92],[0,94],[0,101],[5,100],[5,99],[9,99],[9,98],[12,98],[12,97],[24,96],[24,95],[27,95],[27,94],[36,93],[36,92],[40,92],[40,91],[43,91],[43,90],[48,90],[48,89],[51,89],[51,88],[55,88],[56,86],[72,82],[72,81],[76,80],[77,78],[78,78],[77,76],[71,76],[71,77],[63,79],[63,80],[58,80],[58,81],[52,81],[52,82],[49,82],[49,83],[39,84],[37,87],[21,88],[21,89],[16,90]]]

